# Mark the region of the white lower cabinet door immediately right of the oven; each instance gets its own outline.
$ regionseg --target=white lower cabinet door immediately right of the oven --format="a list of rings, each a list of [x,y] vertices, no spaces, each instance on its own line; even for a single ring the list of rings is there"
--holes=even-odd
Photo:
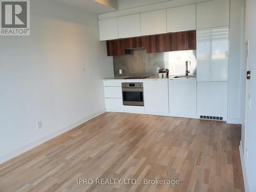
[[[145,112],[169,113],[167,80],[145,80],[143,88]]]

